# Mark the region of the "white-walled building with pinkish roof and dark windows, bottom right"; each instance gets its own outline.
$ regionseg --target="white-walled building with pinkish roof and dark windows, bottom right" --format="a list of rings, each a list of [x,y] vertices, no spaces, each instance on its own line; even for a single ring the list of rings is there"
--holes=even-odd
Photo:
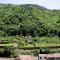
[[[60,54],[39,54],[38,60],[60,60]]]

